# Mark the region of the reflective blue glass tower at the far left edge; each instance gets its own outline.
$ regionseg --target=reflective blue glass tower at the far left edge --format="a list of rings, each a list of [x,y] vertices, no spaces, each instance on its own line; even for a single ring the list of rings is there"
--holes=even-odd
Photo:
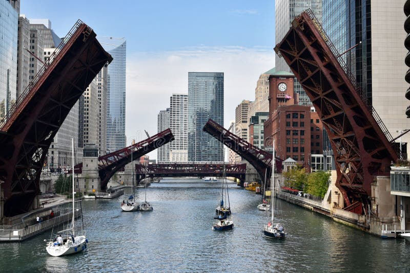
[[[0,121],[16,100],[18,13],[7,1],[0,2]]]

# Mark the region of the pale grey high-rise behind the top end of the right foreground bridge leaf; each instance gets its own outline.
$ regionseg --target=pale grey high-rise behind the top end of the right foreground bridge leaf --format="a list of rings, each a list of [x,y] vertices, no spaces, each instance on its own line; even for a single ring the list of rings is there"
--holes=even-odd
[[[319,22],[322,21],[322,0],[275,0],[275,43],[283,39],[293,19],[306,9],[312,9]],[[291,71],[289,65],[278,55],[275,57],[275,66],[277,71]],[[295,92],[299,94],[299,104],[311,105],[300,83],[296,78],[294,81]]]

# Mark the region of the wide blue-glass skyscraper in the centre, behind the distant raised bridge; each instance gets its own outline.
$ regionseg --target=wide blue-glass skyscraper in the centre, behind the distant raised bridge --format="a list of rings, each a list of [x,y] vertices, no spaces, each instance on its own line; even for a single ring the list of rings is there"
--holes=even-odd
[[[223,161],[223,147],[202,130],[208,119],[223,125],[223,73],[188,73],[188,161]]]

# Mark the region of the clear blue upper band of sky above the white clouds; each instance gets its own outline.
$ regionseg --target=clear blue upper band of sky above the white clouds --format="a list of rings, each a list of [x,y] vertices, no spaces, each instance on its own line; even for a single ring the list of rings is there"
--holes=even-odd
[[[49,18],[59,36],[81,19],[97,35],[125,37],[130,52],[199,45],[271,47],[275,41],[273,0],[22,0],[20,13]]]

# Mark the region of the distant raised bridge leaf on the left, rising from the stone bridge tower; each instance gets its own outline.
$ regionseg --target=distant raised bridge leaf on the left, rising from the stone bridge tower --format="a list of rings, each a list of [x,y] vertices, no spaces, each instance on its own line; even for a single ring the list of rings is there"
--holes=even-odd
[[[139,160],[142,155],[145,155],[162,145],[174,140],[174,135],[171,129],[163,130],[152,137],[117,150],[106,155],[98,157],[98,174],[101,178],[101,189],[106,189],[110,178],[119,170],[123,169],[125,165],[133,160]],[[131,156],[132,152],[132,156]],[[83,163],[77,164],[74,167],[75,173],[83,171]]]

